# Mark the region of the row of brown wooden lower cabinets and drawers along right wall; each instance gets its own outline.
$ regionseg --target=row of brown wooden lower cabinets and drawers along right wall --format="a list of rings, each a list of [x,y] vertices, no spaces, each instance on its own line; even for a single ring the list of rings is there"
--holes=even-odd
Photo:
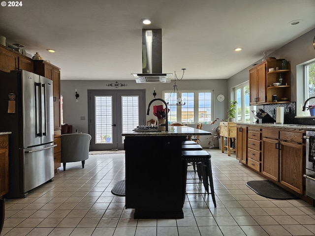
[[[241,126],[248,130],[247,152],[244,151],[242,132],[238,129],[237,159],[246,164],[242,158],[247,153],[249,168],[304,195],[305,130],[238,124],[238,128]]]

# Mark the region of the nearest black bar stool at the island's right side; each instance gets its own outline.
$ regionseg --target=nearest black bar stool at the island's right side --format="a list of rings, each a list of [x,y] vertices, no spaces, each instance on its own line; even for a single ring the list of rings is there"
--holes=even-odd
[[[182,158],[183,158],[183,173],[184,173],[184,201],[185,201],[185,194],[186,194],[186,181],[187,181],[187,166],[190,162],[197,163],[197,166],[200,166],[202,171],[202,178],[203,178],[203,185],[209,193],[209,183],[210,183],[210,190],[211,190],[211,196],[212,201],[215,207],[217,207],[216,198],[215,198],[215,190],[213,185],[213,178],[212,178],[212,169],[211,169],[211,155],[205,151],[205,150],[183,150],[182,151]],[[208,182],[209,178],[209,182]],[[184,204],[184,203],[183,203]]]

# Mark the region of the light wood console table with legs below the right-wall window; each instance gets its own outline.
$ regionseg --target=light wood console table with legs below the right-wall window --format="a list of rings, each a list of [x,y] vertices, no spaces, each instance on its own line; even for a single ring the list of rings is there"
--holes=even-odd
[[[231,148],[230,138],[236,138],[236,124],[234,122],[220,122],[220,136],[221,138],[221,150],[224,153],[224,148],[227,148],[227,155],[231,155],[231,150],[235,150],[235,148]],[[227,146],[224,146],[224,137],[227,139]]]

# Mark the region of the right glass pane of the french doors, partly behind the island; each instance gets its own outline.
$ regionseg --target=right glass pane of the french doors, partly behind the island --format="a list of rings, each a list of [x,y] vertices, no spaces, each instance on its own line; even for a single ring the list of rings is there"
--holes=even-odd
[[[139,96],[122,96],[122,126],[123,133],[139,126]]]

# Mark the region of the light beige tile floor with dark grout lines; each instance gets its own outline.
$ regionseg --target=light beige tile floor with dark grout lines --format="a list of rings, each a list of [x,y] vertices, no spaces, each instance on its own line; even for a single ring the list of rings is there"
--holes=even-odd
[[[7,199],[1,236],[315,235],[315,207],[302,200],[255,194],[246,182],[263,177],[240,164],[235,154],[207,150],[212,155],[217,208],[211,196],[188,195],[184,219],[133,219],[133,209],[125,209],[125,197],[111,193],[125,178],[125,154],[96,154],[84,169],[81,162],[68,163],[65,172],[60,168],[53,182],[27,198]],[[193,191],[193,184],[188,189]]]

